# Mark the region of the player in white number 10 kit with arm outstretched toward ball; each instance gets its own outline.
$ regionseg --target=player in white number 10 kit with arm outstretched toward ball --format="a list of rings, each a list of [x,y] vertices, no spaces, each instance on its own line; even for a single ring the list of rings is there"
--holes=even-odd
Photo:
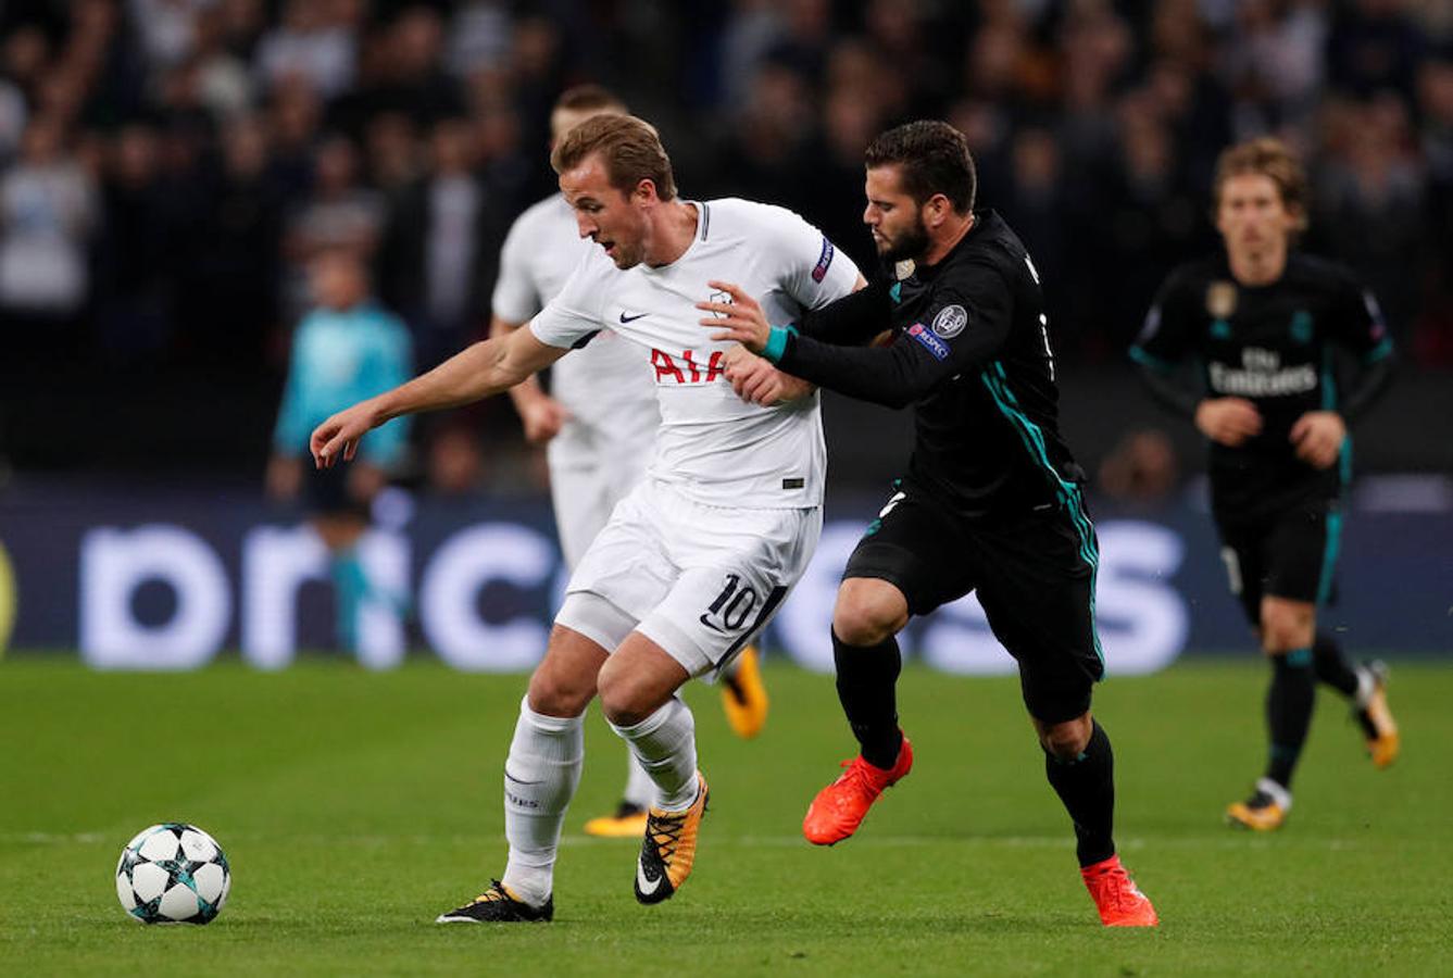
[[[686,882],[708,788],[676,692],[728,666],[802,575],[822,528],[827,468],[817,392],[761,360],[748,369],[767,373],[780,397],[770,407],[738,398],[726,368],[750,355],[703,337],[696,304],[712,298],[708,282],[740,282],[786,323],[863,285],[847,256],[788,211],[677,199],[655,129],[634,116],[581,122],[551,163],[581,237],[604,254],[591,248],[529,328],[334,414],[311,439],[317,465],[352,459],[378,424],[506,391],[602,328],[634,342],[652,368],[661,427],[647,478],[575,568],[520,703],[504,764],[504,875],[442,923],[554,916],[555,854],[596,695],[655,783],[636,900],[660,902]]]

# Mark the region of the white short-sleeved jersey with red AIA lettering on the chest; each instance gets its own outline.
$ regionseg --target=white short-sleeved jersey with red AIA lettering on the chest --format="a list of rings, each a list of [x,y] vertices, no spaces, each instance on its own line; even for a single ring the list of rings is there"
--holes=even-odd
[[[632,340],[661,408],[652,478],[709,506],[819,506],[827,449],[818,395],[780,407],[738,398],[724,373],[732,343],[711,339],[696,302],[726,301],[706,283],[734,282],[769,323],[790,323],[851,292],[857,266],[790,211],[738,199],[693,206],[696,237],[681,257],[622,272],[593,246],[530,330],[556,347],[602,328]]]

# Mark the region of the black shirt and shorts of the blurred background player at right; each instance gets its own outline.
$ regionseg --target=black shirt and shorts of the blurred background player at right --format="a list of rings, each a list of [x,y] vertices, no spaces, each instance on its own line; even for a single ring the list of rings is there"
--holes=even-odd
[[[1361,368],[1345,391],[1338,347]],[[1157,400],[1189,417],[1203,397],[1239,397],[1261,416],[1242,445],[1212,442],[1207,464],[1231,587],[1252,623],[1264,594],[1328,599],[1351,437],[1337,465],[1318,469],[1296,456],[1290,432],[1308,411],[1337,411],[1351,427],[1386,388],[1391,355],[1377,304],[1351,273],[1298,253],[1263,286],[1238,283],[1223,254],[1186,264],[1151,307],[1130,356]]]

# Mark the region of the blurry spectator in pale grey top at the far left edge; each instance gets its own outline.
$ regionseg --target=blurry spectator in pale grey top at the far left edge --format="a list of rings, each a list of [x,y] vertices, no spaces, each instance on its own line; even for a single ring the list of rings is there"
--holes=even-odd
[[[64,323],[89,296],[96,192],[64,141],[60,124],[36,118],[19,163],[0,174],[0,311],[7,315]]]

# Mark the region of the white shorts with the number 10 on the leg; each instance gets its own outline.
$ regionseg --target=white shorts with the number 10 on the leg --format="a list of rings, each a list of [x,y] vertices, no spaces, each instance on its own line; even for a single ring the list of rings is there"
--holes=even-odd
[[[822,510],[726,509],[642,480],[565,589],[556,625],[613,651],[631,631],[692,676],[719,673],[772,621],[822,533]]]

